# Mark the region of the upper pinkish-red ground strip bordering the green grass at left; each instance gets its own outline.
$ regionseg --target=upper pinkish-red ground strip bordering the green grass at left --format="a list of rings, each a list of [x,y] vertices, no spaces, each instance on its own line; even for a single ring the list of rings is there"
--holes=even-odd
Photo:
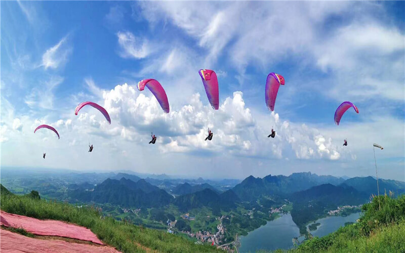
[[[35,235],[61,236],[105,245],[90,229],[61,221],[38,220],[2,211],[0,212],[0,224],[6,227],[23,228]]]

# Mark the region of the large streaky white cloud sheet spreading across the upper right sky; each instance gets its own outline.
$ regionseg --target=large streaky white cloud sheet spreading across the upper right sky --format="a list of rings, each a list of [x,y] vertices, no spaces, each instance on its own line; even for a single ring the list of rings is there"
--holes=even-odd
[[[276,63],[295,61],[300,63],[297,76],[291,76],[289,83],[300,83],[303,89],[336,100],[365,101],[382,95],[403,101],[405,35],[392,22],[383,24],[375,18],[375,12],[385,12],[383,5],[210,3],[203,12],[188,2],[140,6],[151,24],[169,21],[193,37],[205,50],[200,62],[212,63],[225,55],[239,70],[241,83],[247,81],[243,77],[249,66],[266,72]],[[346,22],[330,24],[335,17]],[[328,78],[301,83],[307,67],[328,71]]]

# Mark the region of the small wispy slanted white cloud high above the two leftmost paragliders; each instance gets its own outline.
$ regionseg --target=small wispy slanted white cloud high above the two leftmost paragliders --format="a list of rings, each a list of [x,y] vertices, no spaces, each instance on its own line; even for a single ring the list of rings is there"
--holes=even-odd
[[[66,45],[67,36],[63,37],[55,46],[48,49],[42,56],[42,66],[45,69],[56,69],[67,62],[72,49]]]

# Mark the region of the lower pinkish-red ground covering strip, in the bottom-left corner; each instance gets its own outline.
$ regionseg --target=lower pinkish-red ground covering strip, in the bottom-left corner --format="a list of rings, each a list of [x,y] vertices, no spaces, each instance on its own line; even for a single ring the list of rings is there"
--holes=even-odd
[[[26,237],[5,229],[0,229],[0,250],[9,252],[77,252],[77,253],[119,253],[109,246],[66,242],[62,240],[42,240]]]

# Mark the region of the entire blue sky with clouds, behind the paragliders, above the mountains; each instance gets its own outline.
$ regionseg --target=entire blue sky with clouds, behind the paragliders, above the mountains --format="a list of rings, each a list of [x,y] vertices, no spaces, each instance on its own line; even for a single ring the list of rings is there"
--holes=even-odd
[[[2,2],[1,165],[368,176],[376,142],[379,174],[405,180],[404,10],[403,2]],[[201,68],[217,72],[218,111]],[[269,72],[286,79],[274,113],[264,101]],[[137,90],[146,78],[165,88],[169,114]],[[104,106],[112,124],[92,108],[75,116],[83,101]],[[343,101],[360,113],[347,111],[337,126]],[[61,139],[33,134],[40,123]]]

